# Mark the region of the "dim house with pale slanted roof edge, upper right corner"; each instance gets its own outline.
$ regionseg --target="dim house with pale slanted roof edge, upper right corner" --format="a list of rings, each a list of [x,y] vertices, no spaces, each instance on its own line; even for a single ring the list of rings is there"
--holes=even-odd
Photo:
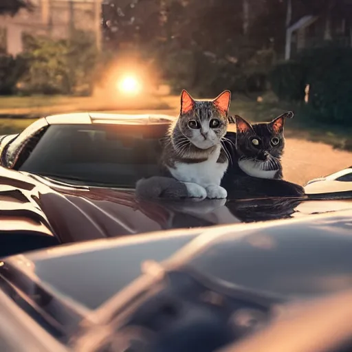
[[[309,11],[303,1],[288,0],[285,59],[327,42],[352,47],[352,1],[331,1],[330,8]]]

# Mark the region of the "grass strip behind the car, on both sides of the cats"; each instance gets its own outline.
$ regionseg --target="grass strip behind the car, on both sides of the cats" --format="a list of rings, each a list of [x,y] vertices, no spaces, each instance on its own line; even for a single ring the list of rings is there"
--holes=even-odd
[[[115,111],[119,113],[167,113],[177,115],[179,97],[148,97],[144,100],[104,100],[91,97],[34,96],[0,97],[0,135],[18,133],[31,124],[35,118],[52,113],[77,111]],[[265,96],[263,102],[243,96],[234,96],[230,114],[241,115],[251,122],[270,121],[281,113],[292,110],[293,120],[287,120],[286,137],[313,142],[323,142],[335,148],[352,151],[352,127],[331,126],[312,120],[307,110],[298,104],[276,102]],[[18,118],[4,118],[6,116]],[[19,118],[19,117],[25,117]],[[31,118],[32,117],[32,118]]]

